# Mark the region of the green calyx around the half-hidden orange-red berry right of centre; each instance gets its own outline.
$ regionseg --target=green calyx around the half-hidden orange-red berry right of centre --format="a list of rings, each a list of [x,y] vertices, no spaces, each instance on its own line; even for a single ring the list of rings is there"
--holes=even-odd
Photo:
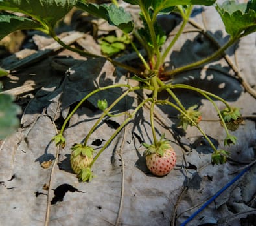
[[[199,110],[195,110],[198,105],[193,105],[187,108],[186,114],[189,116],[185,116],[184,114],[180,114],[180,122],[178,123],[178,127],[182,127],[183,130],[187,130],[187,127],[190,125],[191,127],[194,126],[194,123],[198,124],[202,120],[202,112]],[[192,121],[191,121],[192,119]]]

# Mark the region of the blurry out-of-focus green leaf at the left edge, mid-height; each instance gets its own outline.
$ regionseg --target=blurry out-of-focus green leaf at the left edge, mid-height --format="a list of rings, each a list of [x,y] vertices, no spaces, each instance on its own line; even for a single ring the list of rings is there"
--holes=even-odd
[[[0,139],[5,139],[6,136],[12,134],[19,127],[17,114],[21,112],[21,108],[13,102],[13,96],[0,94]]]

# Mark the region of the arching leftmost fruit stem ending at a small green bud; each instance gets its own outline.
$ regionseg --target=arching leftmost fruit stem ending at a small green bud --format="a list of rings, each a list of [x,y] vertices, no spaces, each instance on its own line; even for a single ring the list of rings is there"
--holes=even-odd
[[[64,121],[64,123],[62,125],[62,128],[60,129],[60,134],[63,134],[65,126],[67,125],[67,122],[69,121],[71,116],[73,116],[73,114],[76,112],[76,110],[80,107],[80,105],[82,105],[82,103],[84,103],[84,101],[86,101],[86,99],[88,99],[89,97],[93,96],[93,94],[96,94],[97,92],[100,92],[102,90],[107,90],[109,88],[116,88],[116,87],[128,87],[128,88],[131,88],[130,85],[115,84],[115,85],[108,85],[107,87],[100,87],[100,88],[97,88],[97,90],[93,90],[93,92],[90,92],[83,99],[81,99],[80,102],[76,105],[76,107],[72,110],[72,112],[69,113],[69,115],[67,116],[67,118],[65,119],[65,121]]]

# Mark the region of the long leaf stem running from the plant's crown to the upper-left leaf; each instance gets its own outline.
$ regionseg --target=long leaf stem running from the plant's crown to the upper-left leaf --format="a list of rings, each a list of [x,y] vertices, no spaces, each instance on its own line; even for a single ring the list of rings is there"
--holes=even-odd
[[[140,73],[141,73],[140,70],[136,70],[136,69],[133,68],[133,67],[130,67],[130,66],[128,66],[128,65],[125,65],[125,64],[123,64],[123,63],[121,63],[121,62],[119,62],[119,61],[115,61],[115,60],[111,59],[110,57],[99,56],[99,55],[97,55],[97,54],[91,54],[91,53],[89,53],[89,52],[80,50],[80,49],[78,49],[78,48],[73,48],[73,47],[71,47],[71,46],[69,46],[69,45],[66,45],[66,44],[55,34],[55,32],[53,32],[53,31],[50,32],[49,35],[51,35],[51,37],[52,37],[57,43],[59,43],[61,46],[63,46],[64,48],[67,48],[67,50],[71,50],[71,51],[73,51],[73,52],[76,52],[76,53],[78,53],[78,54],[80,54],[80,55],[82,55],[82,56],[86,56],[86,57],[94,57],[94,58],[100,58],[100,57],[101,57],[101,58],[106,59],[107,61],[110,61],[111,63],[113,63],[113,65],[119,66],[119,67],[121,67],[121,68],[124,68],[124,69],[128,70],[129,72],[133,72],[134,74],[140,74]]]

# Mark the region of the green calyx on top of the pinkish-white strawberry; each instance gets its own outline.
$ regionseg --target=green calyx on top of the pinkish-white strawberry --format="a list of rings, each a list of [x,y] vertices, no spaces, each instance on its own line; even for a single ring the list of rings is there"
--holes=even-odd
[[[143,143],[143,146],[146,147],[144,156],[149,156],[150,154],[155,153],[159,156],[163,156],[165,154],[165,150],[171,148],[169,141],[164,138],[164,135],[156,144],[148,145],[147,143]]]

